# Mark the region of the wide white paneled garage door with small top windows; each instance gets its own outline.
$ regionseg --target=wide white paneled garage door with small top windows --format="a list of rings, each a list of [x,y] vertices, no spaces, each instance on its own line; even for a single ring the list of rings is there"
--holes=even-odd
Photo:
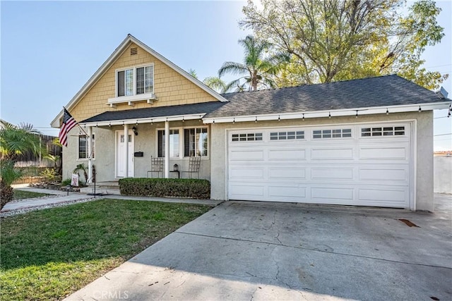
[[[228,133],[229,199],[410,207],[410,124]]]

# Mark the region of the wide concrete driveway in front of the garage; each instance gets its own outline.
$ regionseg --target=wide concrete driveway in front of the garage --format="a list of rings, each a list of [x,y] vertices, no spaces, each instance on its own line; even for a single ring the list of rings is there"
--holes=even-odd
[[[438,214],[226,202],[67,300],[452,300],[435,197]]]

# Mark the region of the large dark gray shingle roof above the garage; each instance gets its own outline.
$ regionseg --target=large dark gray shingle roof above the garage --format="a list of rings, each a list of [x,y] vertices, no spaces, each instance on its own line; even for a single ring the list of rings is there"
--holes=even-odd
[[[207,118],[333,111],[450,101],[450,99],[441,98],[436,93],[400,78],[398,75],[227,93],[222,96],[229,102],[208,113]]]

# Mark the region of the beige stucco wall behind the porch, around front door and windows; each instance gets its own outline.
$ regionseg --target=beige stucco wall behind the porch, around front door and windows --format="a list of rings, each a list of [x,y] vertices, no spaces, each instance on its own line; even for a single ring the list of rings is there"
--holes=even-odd
[[[206,126],[199,121],[179,121],[169,123],[170,128],[179,128],[179,133],[183,128],[191,128],[196,126]],[[129,125],[129,129],[133,125]],[[157,129],[164,130],[164,123],[150,123],[136,125],[138,128],[138,135],[133,137],[134,152],[143,152],[143,157],[133,158],[133,168],[135,172],[135,178],[145,178],[147,171],[150,170],[150,157],[157,156]],[[210,128],[208,126],[208,128]],[[85,129],[88,132],[88,128]],[[95,134],[95,159],[93,164],[96,167],[96,180],[97,182],[115,180],[115,135],[117,130],[124,131],[121,125],[109,127],[93,127],[93,133]],[[78,128],[71,130],[68,147],[63,147],[63,178],[71,178],[71,173],[77,164],[84,163],[88,166],[88,160],[78,160]],[[212,147],[210,144],[210,129],[208,130],[209,148],[208,153],[212,154]],[[183,142],[182,142],[183,143]],[[182,153],[183,156],[183,153]],[[173,170],[174,164],[179,165],[179,171],[188,171],[189,159],[169,159],[169,170]],[[157,177],[157,173],[153,176]],[[171,178],[177,177],[176,173],[170,173]],[[196,178],[196,174],[192,175]],[[182,174],[181,174],[182,177]],[[188,174],[184,174],[184,178],[188,177]],[[210,156],[206,159],[201,159],[201,168],[199,178],[210,180]]]

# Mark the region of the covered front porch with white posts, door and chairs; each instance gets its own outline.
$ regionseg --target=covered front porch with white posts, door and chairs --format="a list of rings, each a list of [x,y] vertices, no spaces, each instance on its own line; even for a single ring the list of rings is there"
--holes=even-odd
[[[199,172],[191,176],[210,180],[210,125],[202,121],[210,107],[218,107],[218,102],[109,111],[82,121],[85,152],[91,154],[83,160],[88,166],[88,175],[93,175],[95,166],[97,185],[101,182],[117,183],[119,178],[127,177],[189,178],[190,175],[184,172],[189,171],[190,157],[199,156]],[[186,113],[161,116],[179,111]],[[73,154],[75,161],[82,161],[77,157],[80,153],[79,142],[78,154]],[[162,170],[149,173],[153,170],[151,161],[155,158],[162,159]],[[65,162],[71,163],[70,160]],[[67,173],[73,167],[64,166],[64,169]],[[90,183],[93,183],[92,176],[88,176]],[[109,184],[106,186],[107,192],[117,191]]]

